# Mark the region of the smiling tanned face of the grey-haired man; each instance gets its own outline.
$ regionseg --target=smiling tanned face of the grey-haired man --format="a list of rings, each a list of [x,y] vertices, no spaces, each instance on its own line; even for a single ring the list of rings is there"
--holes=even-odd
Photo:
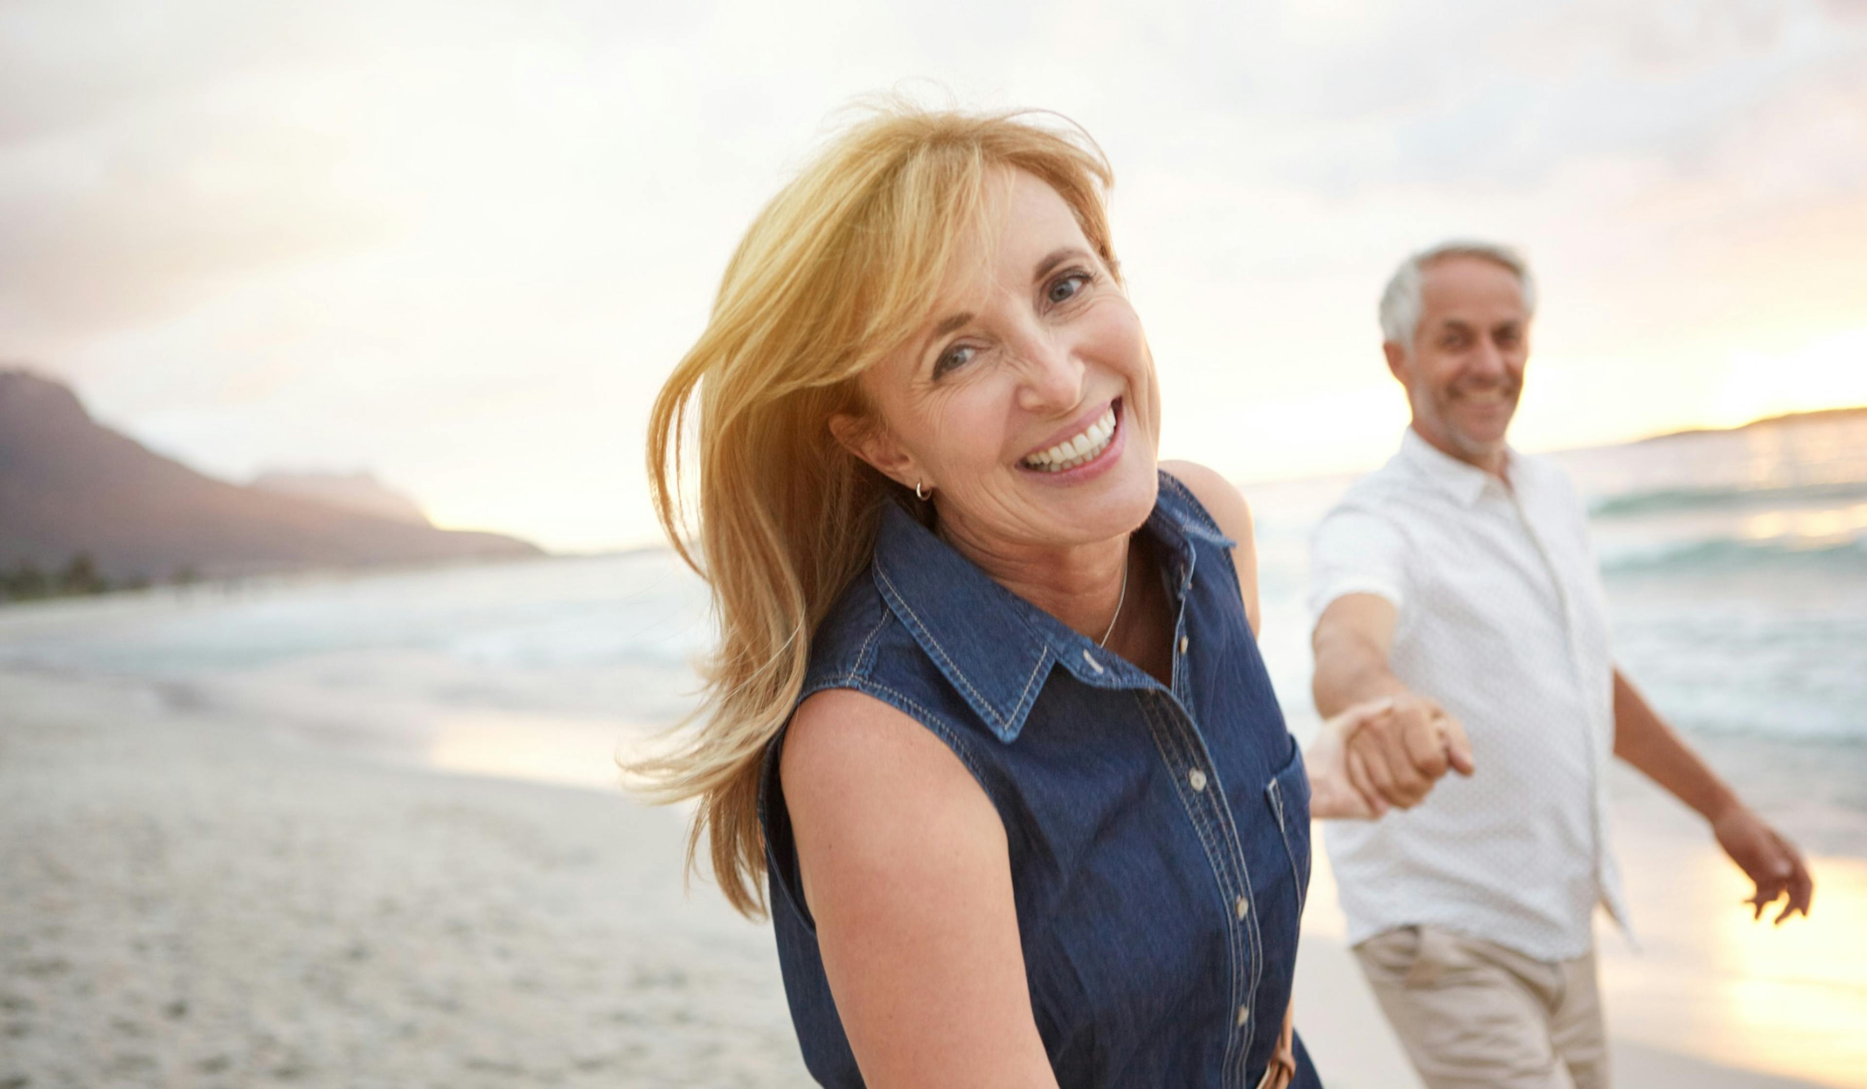
[[[1497,471],[1523,392],[1529,312],[1516,273],[1486,258],[1426,265],[1411,351],[1385,344],[1413,430],[1447,454]]]

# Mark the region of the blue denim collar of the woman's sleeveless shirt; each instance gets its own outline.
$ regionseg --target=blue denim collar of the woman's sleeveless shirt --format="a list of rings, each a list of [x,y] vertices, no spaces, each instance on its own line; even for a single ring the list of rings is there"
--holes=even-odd
[[[1193,538],[1232,542],[1184,510],[1180,493],[1180,482],[1163,474],[1148,532],[1172,557],[1171,585],[1184,594]],[[889,609],[1001,742],[1018,738],[1053,665],[1090,687],[1158,687],[1144,671],[991,581],[896,502],[881,506],[872,573]]]

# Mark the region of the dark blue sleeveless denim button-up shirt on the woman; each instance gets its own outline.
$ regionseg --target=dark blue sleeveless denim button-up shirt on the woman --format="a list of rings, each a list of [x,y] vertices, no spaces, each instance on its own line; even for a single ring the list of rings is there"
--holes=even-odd
[[[1232,542],[1161,473],[1146,523],[1172,686],[993,583],[892,502],[816,631],[803,697],[848,687],[947,743],[1004,822],[1038,1035],[1064,1089],[1255,1089],[1296,968],[1309,779],[1240,601]],[[797,878],[780,732],[760,820],[810,1074],[863,1085]],[[1298,1042],[1294,1085],[1316,1087]]]

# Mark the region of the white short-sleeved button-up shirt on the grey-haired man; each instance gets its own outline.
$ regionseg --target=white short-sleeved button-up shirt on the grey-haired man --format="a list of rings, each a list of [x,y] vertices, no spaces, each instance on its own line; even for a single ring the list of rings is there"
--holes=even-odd
[[[1327,826],[1350,943],[1434,925],[1566,960],[1606,902],[1613,658],[1587,516],[1553,463],[1507,456],[1507,488],[1411,428],[1311,542],[1314,616],[1346,594],[1400,611],[1389,667],[1464,723],[1477,773],[1411,811]]]

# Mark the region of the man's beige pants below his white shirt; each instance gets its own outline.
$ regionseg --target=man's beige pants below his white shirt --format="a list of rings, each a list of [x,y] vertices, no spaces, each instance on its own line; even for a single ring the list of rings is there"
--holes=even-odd
[[[1428,1089],[1607,1089],[1593,953],[1551,964],[1402,926],[1355,958]]]

